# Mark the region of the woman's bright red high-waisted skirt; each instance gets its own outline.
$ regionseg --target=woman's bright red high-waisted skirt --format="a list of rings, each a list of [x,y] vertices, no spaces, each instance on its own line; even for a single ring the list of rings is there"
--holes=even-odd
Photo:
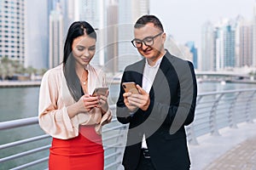
[[[102,136],[94,126],[80,126],[79,136],[73,139],[52,140],[49,149],[49,170],[103,170]]]

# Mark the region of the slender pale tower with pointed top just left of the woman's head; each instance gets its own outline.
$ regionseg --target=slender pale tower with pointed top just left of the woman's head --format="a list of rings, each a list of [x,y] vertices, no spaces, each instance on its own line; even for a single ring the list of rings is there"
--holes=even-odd
[[[63,16],[61,3],[49,15],[49,68],[61,64],[63,60]]]

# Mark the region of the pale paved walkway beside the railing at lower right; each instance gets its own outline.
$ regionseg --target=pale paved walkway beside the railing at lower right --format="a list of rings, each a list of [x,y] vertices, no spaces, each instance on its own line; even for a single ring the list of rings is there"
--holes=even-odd
[[[225,127],[220,136],[209,134],[189,144],[191,170],[256,170],[256,123]]]

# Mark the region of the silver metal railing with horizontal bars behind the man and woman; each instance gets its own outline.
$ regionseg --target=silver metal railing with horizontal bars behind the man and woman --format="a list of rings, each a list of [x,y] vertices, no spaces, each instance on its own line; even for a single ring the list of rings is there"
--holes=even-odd
[[[115,113],[114,105],[110,109]],[[255,118],[256,88],[198,94],[195,121],[186,127],[187,139],[198,144],[196,138],[201,135],[219,135],[220,128],[237,128],[238,123],[253,123]],[[103,127],[104,169],[120,166],[126,132],[127,125],[115,118]],[[47,169],[51,137],[38,126],[38,117],[0,122],[0,135],[0,169]]]

